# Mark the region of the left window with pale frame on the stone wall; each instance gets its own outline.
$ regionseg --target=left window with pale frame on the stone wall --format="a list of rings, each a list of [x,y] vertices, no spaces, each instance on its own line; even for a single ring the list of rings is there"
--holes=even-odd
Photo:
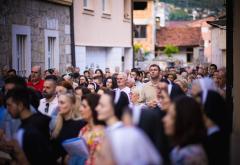
[[[31,27],[12,25],[12,68],[20,76],[31,73]]]

